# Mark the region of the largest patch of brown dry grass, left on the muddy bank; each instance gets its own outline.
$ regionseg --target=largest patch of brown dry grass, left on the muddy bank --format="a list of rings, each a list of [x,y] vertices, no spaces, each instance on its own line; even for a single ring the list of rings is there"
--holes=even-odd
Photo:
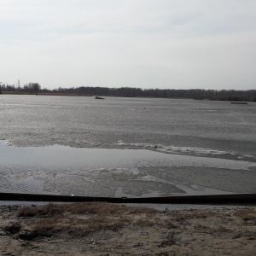
[[[20,238],[32,240],[42,236],[65,233],[69,236],[87,236],[99,230],[116,231],[125,224],[152,226],[154,209],[125,207],[104,202],[49,204],[40,207],[21,207],[18,217],[32,218],[32,228]],[[136,219],[136,220],[134,220]]]

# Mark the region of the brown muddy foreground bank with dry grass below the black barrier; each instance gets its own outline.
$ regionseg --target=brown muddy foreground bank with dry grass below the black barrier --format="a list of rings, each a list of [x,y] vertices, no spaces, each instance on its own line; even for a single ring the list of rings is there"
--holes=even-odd
[[[256,207],[0,207],[1,255],[255,255]]]

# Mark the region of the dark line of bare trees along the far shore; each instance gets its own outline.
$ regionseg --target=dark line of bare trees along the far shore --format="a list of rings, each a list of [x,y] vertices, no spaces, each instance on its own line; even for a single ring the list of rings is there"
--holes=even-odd
[[[38,83],[25,84],[23,87],[15,85],[0,86],[1,93],[17,94],[52,94],[76,96],[119,96],[119,97],[158,97],[158,98],[186,98],[195,100],[256,102],[256,90],[174,90],[174,89],[140,89],[131,87],[76,87],[54,90],[41,89]]]

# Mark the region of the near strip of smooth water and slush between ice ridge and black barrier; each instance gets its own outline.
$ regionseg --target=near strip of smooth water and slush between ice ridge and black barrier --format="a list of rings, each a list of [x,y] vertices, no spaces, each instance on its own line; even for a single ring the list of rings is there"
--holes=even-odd
[[[0,191],[88,196],[255,193],[256,164],[158,150],[0,142]],[[254,170],[254,171],[253,171]]]

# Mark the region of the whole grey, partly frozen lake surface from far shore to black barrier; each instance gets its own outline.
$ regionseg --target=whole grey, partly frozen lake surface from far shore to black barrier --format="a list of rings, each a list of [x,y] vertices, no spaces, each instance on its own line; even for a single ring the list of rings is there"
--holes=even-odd
[[[0,192],[256,193],[255,135],[253,102],[1,95]]]

